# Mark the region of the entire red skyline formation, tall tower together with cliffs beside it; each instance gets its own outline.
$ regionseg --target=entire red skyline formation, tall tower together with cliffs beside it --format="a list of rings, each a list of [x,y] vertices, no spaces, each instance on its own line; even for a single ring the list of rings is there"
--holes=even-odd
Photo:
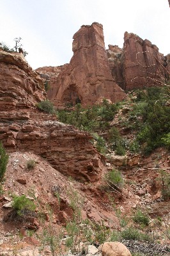
[[[94,22],[73,35],[69,64],[37,68],[50,81],[47,97],[56,106],[91,105],[106,98],[126,98],[123,90],[162,86],[169,81],[169,54],[164,56],[149,40],[125,32],[123,49],[109,45],[105,51],[103,27]],[[123,90],[121,90],[123,89]]]

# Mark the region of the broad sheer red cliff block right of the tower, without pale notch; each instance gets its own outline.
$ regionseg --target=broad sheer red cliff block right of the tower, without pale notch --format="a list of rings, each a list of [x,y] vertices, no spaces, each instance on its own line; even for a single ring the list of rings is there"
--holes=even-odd
[[[125,32],[123,45],[123,88],[131,90],[160,86],[167,71],[163,54],[149,40]]]

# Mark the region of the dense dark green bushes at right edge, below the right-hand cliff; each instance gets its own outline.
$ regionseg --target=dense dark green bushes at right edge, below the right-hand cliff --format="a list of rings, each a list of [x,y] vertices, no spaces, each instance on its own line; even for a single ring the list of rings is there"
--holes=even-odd
[[[136,104],[129,116],[129,120],[135,120],[133,129],[137,130],[136,143],[141,145],[146,155],[157,147],[169,148],[169,87],[147,88],[136,93]]]

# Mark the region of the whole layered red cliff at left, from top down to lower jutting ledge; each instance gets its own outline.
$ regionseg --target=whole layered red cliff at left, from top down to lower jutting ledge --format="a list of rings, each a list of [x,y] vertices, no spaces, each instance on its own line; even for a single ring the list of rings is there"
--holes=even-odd
[[[46,97],[43,80],[22,55],[1,51],[0,60],[0,141],[6,150],[33,152],[63,174],[98,180],[105,159],[91,136],[35,108]]]

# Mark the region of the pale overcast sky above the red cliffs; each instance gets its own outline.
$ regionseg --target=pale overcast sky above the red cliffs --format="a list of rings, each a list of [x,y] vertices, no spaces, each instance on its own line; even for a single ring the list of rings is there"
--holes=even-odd
[[[106,49],[123,47],[128,31],[170,53],[168,0],[0,0],[0,10],[0,42],[21,37],[33,68],[69,63],[73,35],[93,22],[104,26]]]

